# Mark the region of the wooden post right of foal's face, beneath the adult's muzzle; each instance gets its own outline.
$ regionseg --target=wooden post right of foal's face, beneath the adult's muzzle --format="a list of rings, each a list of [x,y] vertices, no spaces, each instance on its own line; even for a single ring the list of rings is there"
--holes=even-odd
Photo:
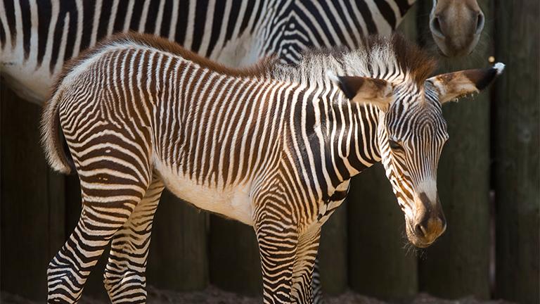
[[[478,2],[492,20],[489,1]],[[420,15],[427,18],[431,5],[426,2]],[[488,22],[484,28],[487,41],[470,55],[476,61],[441,61],[439,72],[487,67],[492,54],[490,26]],[[443,109],[450,139],[439,161],[437,189],[448,227],[423,251],[418,273],[420,291],[438,297],[489,298],[489,106],[489,91],[484,91]]]

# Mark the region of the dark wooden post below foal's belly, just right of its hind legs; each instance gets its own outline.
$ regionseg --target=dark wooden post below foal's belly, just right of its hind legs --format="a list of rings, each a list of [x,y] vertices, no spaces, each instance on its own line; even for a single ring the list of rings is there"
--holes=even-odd
[[[164,191],[152,228],[146,276],[158,289],[195,291],[208,284],[207,213]]]

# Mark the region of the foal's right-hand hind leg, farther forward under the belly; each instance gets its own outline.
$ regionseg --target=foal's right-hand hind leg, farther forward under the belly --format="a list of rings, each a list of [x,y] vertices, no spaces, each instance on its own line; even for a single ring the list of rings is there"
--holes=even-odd
[[[143,200],[111,241],[105,289],[112,303],[146,302],[146,261],[155,210],[165,188],[156,173]]]

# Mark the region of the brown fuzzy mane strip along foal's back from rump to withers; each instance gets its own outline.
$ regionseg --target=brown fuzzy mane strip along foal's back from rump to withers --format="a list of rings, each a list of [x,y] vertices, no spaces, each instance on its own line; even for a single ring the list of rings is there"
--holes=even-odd
[[[274,65],[278,62],[277,56],[268,56],[260,59],[257,63],[249,65],[245,68],[229,68],[226,65],[214,62],[208,58],[198,55],[193,51],[184,49],[184,47],[171,42],[165,38],[157,37],[152,34],[141,34],[137,32],[127,32],[121,34],[115,34],[107,39],[103,39],[101,42],[98,42],[96,46],[84,50],[79,56],[71,58],[67,63],[64,64],[60,74],[56,77],[56,80],[53,84],[51,95],[53,96],[58,91],[58,87],[62,83],[66,75],[69,74],[77,65],[84,62],[86,59],[93,56],[98,51],[101,51],[105,46],[110,46],[118,42],[131,42],[135,44],[140,44],[143,46],[148,46],[153,49],[158,49],[160,51],[166,51],[168,53],[173,53],[176,56],[181,56],[186,58],[188,61],[197,63],[200,66],[219,72],[220,74],[229,75],[233,77],[259,77],[266,75]]]

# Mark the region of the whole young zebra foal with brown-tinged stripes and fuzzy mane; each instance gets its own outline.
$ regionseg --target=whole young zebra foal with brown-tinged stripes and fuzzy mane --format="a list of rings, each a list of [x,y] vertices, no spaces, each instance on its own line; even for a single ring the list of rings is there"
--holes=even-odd
[[[60,125],[82,214],[49,264],[49,303],[77,302],[109,241],[110,299],[146,301],[152,220],[165,186],[254,227],[264,303],[313,302],[321,225],[349,179],[380,160],[409,240],[429,246],[446,228],[435,182],[448,137],[442,104],[483,89],[503,68],[428,79],[434,66],[400,37],[307,53],[297,67],[270,59],[233,70],[128,34],[71,61],[44,108],[42,139],[51,166],[70,172]]]

